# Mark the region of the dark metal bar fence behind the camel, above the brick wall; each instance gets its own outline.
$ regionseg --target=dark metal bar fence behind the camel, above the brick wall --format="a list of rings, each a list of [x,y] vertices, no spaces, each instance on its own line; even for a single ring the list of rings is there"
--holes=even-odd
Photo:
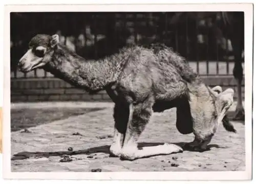
[[[54,77],[44,70],[17,71],[16,63],[37,33],[58,34],[62,44],[87,59],[114,54],[129,44],[164,43],[200,75],[231,75],[232,46],[219,34],[219,12],[29,12],[11,13],[11,77]],[[220,36],[221,35],[221,36]]]

